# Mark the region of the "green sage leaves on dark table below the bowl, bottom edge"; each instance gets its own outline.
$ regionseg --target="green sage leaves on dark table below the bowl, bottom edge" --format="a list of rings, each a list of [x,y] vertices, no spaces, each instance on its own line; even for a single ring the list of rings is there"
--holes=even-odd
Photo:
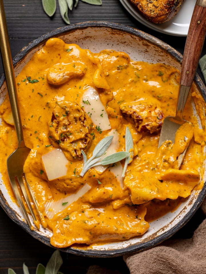
[[[36,274],[63,274],[59,271],[60,267],[62,266],[62,257],[60,255],[60,251],[56,250],[51,255],[46,267],[43,266],[41,263],[37,265]],[[11,268],[8,269],[8,274],[16,274],[15,271]],[[29,274],[29,269],[23,263],[23,274]]]

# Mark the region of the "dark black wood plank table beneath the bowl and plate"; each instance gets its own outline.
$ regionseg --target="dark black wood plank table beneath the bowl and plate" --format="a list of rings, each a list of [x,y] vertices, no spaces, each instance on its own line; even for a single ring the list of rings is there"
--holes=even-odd
[[[94,6],[79,1],[77,8],[69,11],[70,23],[84,21],[110,21],[140,29],[168,43],[183,53],[186,37],[175,37],[159,33],[145,27],[136,21],[118,0],[102,0],[102,6]],[[44,13],[41,0],[4,0],[5,13],[14,57],[25,45],[37,37],[65,25],[57,7],[53,18]],[[206,44],[202,55],[206,54]],[[0,73],[3,72],[0,63]],[[203,76],[198,68],[198,73]],[[193,231],[205,216],[199,209],[191,221],[173,237],[191,237]],[[8,268],[17,274],[23,273],[22,265],[29,267],[30,274],[35,274],[38,263],[46,265],[54,249],[34,239],[18,227],[0,207],[0,274],[8,273]],[[61,253],[63,265],[60,269],[66,273],[86,273],[90,265],[100,265],[108,269],[129,273],[122,257],[116,258],[86,258]]]

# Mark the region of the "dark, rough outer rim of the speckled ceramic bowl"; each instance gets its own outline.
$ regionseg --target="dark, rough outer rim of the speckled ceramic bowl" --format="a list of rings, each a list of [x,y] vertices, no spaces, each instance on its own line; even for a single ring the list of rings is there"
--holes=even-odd
[[[60,35],[63,35],[64,33],[66,34],[66,33],[70,32],[70,31],[75,31],[78,29],[86,29],[88,27],[99,27],[99,28],[105,27],[105,28],[129,33],[136,37],[142,38],[142,39],[148,41],[149,43],[153,43],[154,45],[157,45],[159,48],[163,49],[164,51],[167,51],[170,55],[172,55],[180,63],[182,61],[182,55],[178,51],[176,51],[174,48],[172,48],[168,44],[164,43],[163,41],[157,39],[156,37],[154,37],[152,35],[144,33],[138,29],[128,27],[126,25],[121,25],[121,24],[106,22],[106,21],[89,21],[89,22],[77,23],[74,25],[68,25],[65,27],[61,27],[59,29],[56,29],[49,33],[46,33],[45,35],[35,39],[31,43],[29,43],[27,46],[25,46],[13,58],[14,67],[15,67],[15,65],[17,65],[17,63],[22,58],[24,58],[27,55],[27,53],[29,53],[31,50],[33,50],[37,45],[42,45],[43,43],[45,43],[45,41],[47,39],[49,39],[51,37],[58,37]],[[5,76],[4,76],[4,74],[2,74],[2,76],[0,78],[0,87],[3,85],[4,80],[5,80]],[[201,95],[203,96],[203,98],[206,102],[205,86],[198,74],[196,74],[196,76],[195,76],[195,82],[197,84],[197,87],[199,88]],[[199,208],[199,206],[201,205],[201,203],[203,201],[203,198],[205,197],[205,194],[206,194],[206,185],[204,184],[202,190],[198,194],[197,200],[194,202],[194,204],[191,207],[191,209],[189,210],[189,212],[187,212],[187,214],[185,214],[183,219],[181,219],[177,223],[177,225],[175,225],[175,227],[172,227],[168,231],[165,231],[163,234],[155,237],[154,239],[146,241],[144,243],[131,244],[128,247],[118,248],[115,250],[93,250],[93,249],[85,249],[84,250],[84,249],[74,249],[72,247],[68,247],[68,248],[64,248],[64,249],[60,249],[60,250],[68,252],[68,253],[72,253],[75,255],[85,256],[85,257],[105,257],[105,258],[106,257],[117,257],[117,256],[125,255],[125,254],[132,254],[135,252],[143,251],[145,249],[148,249],[150,247],[153,247],[155,245],[162,243],[163,241],[165,241],[166,239],[171,237],[173,234],[175,234],[181,227],[183,227],[191,219],[191,217],[194,215],[194,213],[197,211],[197,209]],[[19,225],[21,228],[23,228],[27,233],[29,233],[35,239],[38,239],[42,243],[44,243],[50,247],[53,247],[50,244],[49,238],[47,238],[43,235],[40,235],[36,231],[31,231],[25,222],[18,219],[16,212],[13,209],[11,209],[11,207],[9,207],[6,199],[4,198],[4,196],[1,192],[0,192],[0,203],[1,203],[1,206],[4,209],[4,211],[7,213],[7,215],[17,225]],[[53,247],[53,248],[55,248],[55,247]]]

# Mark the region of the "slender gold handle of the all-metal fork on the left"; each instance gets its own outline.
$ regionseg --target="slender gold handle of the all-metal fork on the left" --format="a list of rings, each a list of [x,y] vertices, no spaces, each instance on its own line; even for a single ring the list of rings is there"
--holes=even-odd
[[[18,145],[24,146],[21,118],[17,101],[15,74],[11,57],[3,0],[0,0],[0,50]]]

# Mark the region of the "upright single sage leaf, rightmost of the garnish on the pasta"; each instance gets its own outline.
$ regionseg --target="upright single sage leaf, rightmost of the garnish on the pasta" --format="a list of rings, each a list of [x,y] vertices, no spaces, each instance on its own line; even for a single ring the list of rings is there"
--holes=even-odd
[[[124,168],[122,171],[122,177],[124,177],[127,166],[128,164],[132,162],[133,155],[134,155],[134,144],[133,144],[132,134],[128,126],[126,127],[126,132],[125,132],[125,150],[126,152],[128,152],[128,155],[126,156],[126,159],[125,159]]]

